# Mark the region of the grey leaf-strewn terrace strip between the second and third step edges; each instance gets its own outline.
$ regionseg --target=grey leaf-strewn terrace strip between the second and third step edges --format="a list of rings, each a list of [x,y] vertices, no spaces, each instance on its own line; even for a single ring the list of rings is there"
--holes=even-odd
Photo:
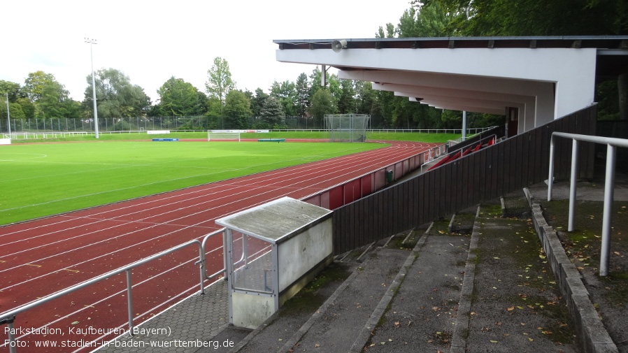
[[[449,350],[469,239],[446,234],[427,236],[365,350]]]

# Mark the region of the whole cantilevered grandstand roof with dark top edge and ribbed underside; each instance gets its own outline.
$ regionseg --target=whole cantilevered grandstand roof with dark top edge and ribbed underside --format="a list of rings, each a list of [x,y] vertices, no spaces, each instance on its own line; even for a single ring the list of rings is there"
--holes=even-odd
[[[274,41],[277,60],[338,69],[338,78],[438,108],[505,114],[527,131],[593,103],[597,79],[628,71],[628,37],[462,37]]]

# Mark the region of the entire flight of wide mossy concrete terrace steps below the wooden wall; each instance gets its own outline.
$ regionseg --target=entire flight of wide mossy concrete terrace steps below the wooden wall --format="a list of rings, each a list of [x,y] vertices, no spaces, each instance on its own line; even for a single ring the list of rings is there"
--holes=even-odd
[[[206,352],[580,352],[523,192],[336,258]],[[199,350],[199,352],[205,352]]]

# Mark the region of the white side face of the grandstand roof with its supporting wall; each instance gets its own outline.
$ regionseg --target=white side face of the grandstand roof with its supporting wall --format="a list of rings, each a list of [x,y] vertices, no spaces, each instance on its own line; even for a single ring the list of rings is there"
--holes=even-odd
[[[441,82],[446,79],[447,87],[459,89],[482,89],[485,85],[477,80],[492,78],[490,81],[493,83],[502,82],[494,87],[494,91],[536,96],[536,126],[593,103],[596,55],[595,48],[394,48],[346,49],[338,53],[320,49],[276,51],[280,62],[390,70],[387,73],[407,71],[401,75],[421,75],[424,80],[438,79]],[[378,73],[361,72],[374,75]],[[339,78],[359,80],[354,75],[355,71],[341,73],[343,77],[339,73]],[[456,76],[458,79],[455,79]],[[362,80],[386,82],[366,76]],[[431,85],[425,81],[405,82],[410,85]],[[529,85],[526,82],[545,82],[551,85],[549,89],[544,87],[539,94],[530,94],[529,87],[527,92],[520,92],[521,86]],[[548,116],[549,112],[551,116]]]

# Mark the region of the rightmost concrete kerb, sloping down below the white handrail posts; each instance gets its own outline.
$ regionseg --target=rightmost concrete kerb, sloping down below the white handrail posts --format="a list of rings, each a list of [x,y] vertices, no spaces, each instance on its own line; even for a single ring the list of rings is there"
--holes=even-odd
[[[523,191],[533,212],[534,228],[541,240],[545,255],[550,261],[555,278],[559,281],[561,294],[565,298],[576,331],[579,333],[583,350],[594,353],[619,352],[591,303],[580,272],[571,263],[556,232],[548,226],[547,220],[543,217],[541,206],[534,201],[528,188],[524,188]]]

